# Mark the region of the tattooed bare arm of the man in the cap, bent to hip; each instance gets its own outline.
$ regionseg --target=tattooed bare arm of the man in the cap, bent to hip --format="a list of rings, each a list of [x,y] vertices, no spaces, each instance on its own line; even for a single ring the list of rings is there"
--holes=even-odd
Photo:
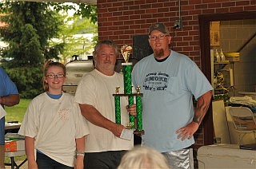
[[[180,134],[178,135],[178,139],[182,138],[182,140],[190,139],[193,135],[194,132],[196,132],[199,128],[199,125],[202,123],[202,120],[204,116],[206,116],[206,112],[210,106],[210,101],[212,98],[212,91],[208,91],[204,93],[202,96],[198,98],[198,103],[197,107],[194,112],[194,118],[193,121],[186,125],[184,128],[178,129],[176,133]]]

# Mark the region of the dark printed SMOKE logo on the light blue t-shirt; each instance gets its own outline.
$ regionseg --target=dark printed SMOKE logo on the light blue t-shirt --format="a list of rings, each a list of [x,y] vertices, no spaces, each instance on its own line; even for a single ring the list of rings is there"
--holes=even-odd
[[[169,81],[169,75],[166,73],[148,73],[146,75],[143,88],[145,90],[166,90]]]

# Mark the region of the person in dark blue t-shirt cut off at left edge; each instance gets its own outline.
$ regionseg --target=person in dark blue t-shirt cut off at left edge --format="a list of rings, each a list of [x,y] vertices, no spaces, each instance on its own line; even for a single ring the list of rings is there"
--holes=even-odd
[[[10,80],[10,77],[0,67],[0,104],[4,106],[13,106],[19,103],[19,95],[16,85]],[[0,169],[5,168],[5,117],[0,119]]]

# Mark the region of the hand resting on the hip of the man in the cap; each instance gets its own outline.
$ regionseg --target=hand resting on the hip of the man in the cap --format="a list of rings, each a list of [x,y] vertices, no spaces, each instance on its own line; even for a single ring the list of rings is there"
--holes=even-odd
[[[194,132],[196,132],[199,128],[199,124],[192,121],[190,124],[187,124],[184,128],[180,128],[176,131],[176,133],[180,133],[178,135],[178,139],[182,138],[182,141],[185,139],[190,139]]]

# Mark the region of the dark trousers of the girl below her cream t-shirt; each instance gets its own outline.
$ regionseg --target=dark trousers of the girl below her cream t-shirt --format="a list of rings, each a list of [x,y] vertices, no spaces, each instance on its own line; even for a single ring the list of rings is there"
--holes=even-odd
[[[70,169],[74,167],[66,166],[62,163],[58,163],[54,159],[50,159],[47,155],[37,152],[38,169]]]

